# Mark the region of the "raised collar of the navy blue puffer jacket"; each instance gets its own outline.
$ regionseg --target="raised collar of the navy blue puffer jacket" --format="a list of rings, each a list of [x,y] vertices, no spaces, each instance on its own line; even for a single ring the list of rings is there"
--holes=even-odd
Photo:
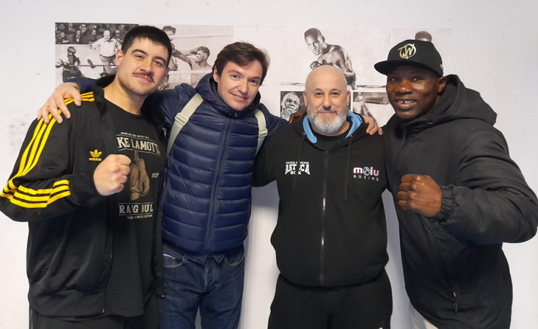
[[[226,104],[224,100],[222,100],[222,97],[220,97],[218,93],[218,83],[213,79],[212,73],[208,73],[200,79],[198,85],[196,85],[196,92],[203,97],[205,102],[209,102],[213,109],[221,112],[226,117],[235,119],[244,117],[244,115],[259,107],[259,99],[262,97],[259,95],[259,92],[257,92],[256,97],[254,97],[254,100],[249,106],[241,111],[232,109],[232,107]]]

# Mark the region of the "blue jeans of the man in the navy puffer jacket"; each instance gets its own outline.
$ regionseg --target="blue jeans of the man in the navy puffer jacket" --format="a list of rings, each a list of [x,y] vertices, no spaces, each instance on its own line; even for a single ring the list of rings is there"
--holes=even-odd
[[[159,298],[161,329],[195,329],[200,309],[203,329],[236,329],[244,281],[243,246],[208,257],[164,247],[164,289]]]

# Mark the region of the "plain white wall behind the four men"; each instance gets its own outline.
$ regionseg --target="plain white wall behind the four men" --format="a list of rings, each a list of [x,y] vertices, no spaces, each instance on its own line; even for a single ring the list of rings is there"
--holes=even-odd
[[[118,0],[118,1],[5,1],[0,13],[2,77],[0,88],[3,133],[0,182],[5,182],[15,161],[18,141],[36,109],[52,92],[53,28],[56,21],[102,23],[175,23],[232,25],[240,37],[245,31],[269,26],[323,28],[450,29],[449,49],[443,51],[445,72],[460,75],[480,91],[498,114],[512,158],[527,182],[538,190],[538,5],[534,1],[372,1],[372,0]],[[251,32],[244,36],[252,35]],[[270,40],[245,40],[264,48]],[[350,41],[353,42],[353,41]],[[271,48],[267,46],[268,48]],[[281,51],[285,52],[285,49]],[[388,51],[388,49],[386,50]],[[270,54],[271,55],[271,54]],[[382,60],[384,58],[380,58]],[[269,70],[268,80],[271,79]],[[23,87],[30,90],[23,91]],[[269,94],[267,88],[262,87]],[[262,97],[266,99],[267,97]],[[264,100],[278,112],[273,99]],[[0,183],[3,185],[4,183]],[[394,291],[392,328],[407,328],[405,297],[399,265],[394,208],[384,195],[389,225],[387,266]],[[253,220],[247,239],[247,278],[242,329],[266,328],[269,305],[278,273],[269,236],[276,222],[276,188],[254,190]],[[26,225],[0,214],[0,328],[26,328],[28,303],[25,272]],[[505,245],[514,281],[512,328],[534,328],[538,323],[538,241]]]

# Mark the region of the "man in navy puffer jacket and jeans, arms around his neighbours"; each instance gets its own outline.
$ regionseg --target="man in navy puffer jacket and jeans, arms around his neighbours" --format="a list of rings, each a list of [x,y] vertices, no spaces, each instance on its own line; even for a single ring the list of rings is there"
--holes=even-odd
[[[198,308],[204,329],[239,324],[243,240],[258,144],[254,110],[264,114],[268,136],[286,124],[259,102],[258,89],[268,66],[262,50],[232,43],[217,55],[213,73],[203,77],[196,89],[178,85],[154,93],[144,104],[162,109],[170,131],[176,114],[195,93],[203,98],[176,137],[166,168],[161,205],[166,297],[159,305],[161,328],[195,328]],[[82,90],[93,84],[75,81]],[[80,98],[75,86],[68,82],[58,87],[51,99]],[[69,117],[66,109],[60,109]]]

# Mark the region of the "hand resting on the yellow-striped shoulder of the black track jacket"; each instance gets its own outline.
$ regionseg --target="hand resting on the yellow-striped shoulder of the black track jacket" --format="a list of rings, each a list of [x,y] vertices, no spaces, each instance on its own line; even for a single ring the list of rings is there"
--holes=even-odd
[[[48,124],[50,119],[48,114],[53,114],[54,119],[61,124],[63,122],[60,111],[65,115],[66,118],[71,117],[71,113],[68,110],[68,107],[65,106],[64,99],[72,98],[75,102],[75,105],[80,107],[82,105],[82,97],[80,97],[80,90],[76,83],[65,82],[56,88],[45,104],[38,109],[38,119],[43,118],[43,122]]]

